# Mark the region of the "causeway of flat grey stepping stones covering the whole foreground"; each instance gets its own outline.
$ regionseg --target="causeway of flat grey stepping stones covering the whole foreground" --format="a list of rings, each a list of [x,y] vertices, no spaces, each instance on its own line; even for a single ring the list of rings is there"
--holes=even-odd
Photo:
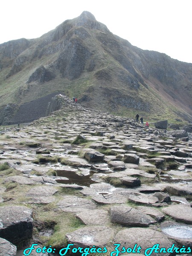
[[[59,255],[67,242],[91,254],[121,244],[131,255],[137,244],[142,256],[175,244],[183,249],[151,255],[190,255],[189,139],[67,97],[51,116],[1,132],[0,255],[21,256],[31,244],[49,250],[30,255]]]

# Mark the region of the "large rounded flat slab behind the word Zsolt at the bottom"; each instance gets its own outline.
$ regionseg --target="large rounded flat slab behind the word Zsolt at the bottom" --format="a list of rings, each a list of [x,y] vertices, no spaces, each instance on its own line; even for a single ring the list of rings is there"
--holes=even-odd
[[[142,248],[140,252],[143,254],[147,248],[153,247],[154,244],[160,244],[160,248],[169,248],[173,244],[163,233],[160,233],[156,230],[152,230],[150,228],[142,227],[131,227],[119,231],[115,236],[114,242],[116,244],[121,244],[119,249],[121,249],[123,246],[125,248],[134,248],[134,245],[137,244],[137,247],[140,246]],[[148,251],[148,253],[149,252],[150,250]],[[151,253],[151,256],[161,255],[162,253]],[[170,253],[163,253],[163,255],[169,256]]]

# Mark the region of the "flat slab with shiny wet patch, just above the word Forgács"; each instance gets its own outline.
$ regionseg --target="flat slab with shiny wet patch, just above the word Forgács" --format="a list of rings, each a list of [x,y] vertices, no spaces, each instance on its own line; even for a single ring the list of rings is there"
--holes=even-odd
[[[114,230],[106,226],[91,226],[75,230],[67,233],[67,241],[74,244],[74,247],[107,247],[111,239],[113,239]]]

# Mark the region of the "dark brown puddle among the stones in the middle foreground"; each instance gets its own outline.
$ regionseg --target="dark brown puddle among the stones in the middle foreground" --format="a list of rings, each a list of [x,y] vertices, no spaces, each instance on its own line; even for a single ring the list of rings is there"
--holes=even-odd
[[[69,180],[57,180],[58,183],[62,184],[77,184],[79,186],[89,187],[91,184],[98,183],[95,180],[91,179],[93,172],[90,172],[89,175],[78,175],[74,171],[59,171],[56,170],[57,176],[66,177]]]

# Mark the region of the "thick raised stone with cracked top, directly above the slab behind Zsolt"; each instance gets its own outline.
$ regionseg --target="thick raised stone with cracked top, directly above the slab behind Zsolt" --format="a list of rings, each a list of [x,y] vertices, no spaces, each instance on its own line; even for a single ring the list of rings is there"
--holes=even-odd
[[[126,205],[110,207],[111,222],[128,227],[148,227],[156,221],[137,209]]]

